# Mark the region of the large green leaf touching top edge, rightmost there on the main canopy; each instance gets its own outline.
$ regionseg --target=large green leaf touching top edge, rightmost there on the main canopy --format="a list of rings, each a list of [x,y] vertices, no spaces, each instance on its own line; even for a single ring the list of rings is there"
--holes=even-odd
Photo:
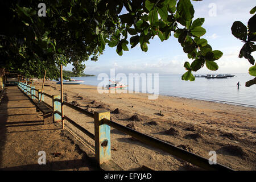
[[[195,10],[190,0],[180,0],[177,3],[177,12],[185,21],[193,19]]]

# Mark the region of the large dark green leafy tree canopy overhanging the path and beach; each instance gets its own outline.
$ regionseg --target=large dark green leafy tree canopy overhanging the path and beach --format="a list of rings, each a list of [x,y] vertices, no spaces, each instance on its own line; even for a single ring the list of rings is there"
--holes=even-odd
[[[38,15],[42,2],[45,17]],[[48,78],[57,78],[59,65],[68,63],[79,75],[82,61],[97,61],[106,44],[121,56],[129,44],[147,52],[150,39],[163,42],[171,34],[192,59],[184,64],[182,80],[195,80],[192,71],[204,65],[216,71],[222,56],[201,38],[204,18],[193,19],[190,0],[16,0],[1,1],[1,8],[0,67],[28,77],[43,77],[47,69]]]

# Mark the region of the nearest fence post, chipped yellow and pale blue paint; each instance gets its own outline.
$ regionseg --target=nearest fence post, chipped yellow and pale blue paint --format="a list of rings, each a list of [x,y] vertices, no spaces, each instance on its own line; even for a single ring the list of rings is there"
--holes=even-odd
[[[110,126],[102,125],[101,119],[110,119],[109,111],[94,111],[95,156],[98,164],[111,159]]]

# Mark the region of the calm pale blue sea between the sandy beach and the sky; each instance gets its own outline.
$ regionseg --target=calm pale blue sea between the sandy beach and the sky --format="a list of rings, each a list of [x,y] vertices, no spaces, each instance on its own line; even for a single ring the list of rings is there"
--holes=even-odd
[[[254,77],[250,76],[249,73],[234,73],[232,75],[235,76],[212,79],[197,77],[195,81],[183,81],[181,80],[181,75],[159,75],[159,94],[256,107],[256,85],[249,88],[245,87],[245,82]],[[74,78],[85,81],[83,83],[85,85],[97,86],[103,81],[103,79],[97,80],[97,76]],[[144,80],[140,79],[140,81]],[[238,81],[241,84],[239,89],[237,89]],[[122,82],[129,84],[128,79],[127,81],[122,80]],[[106,84],[109,84],[109,82],[106,81]],[[152,81],[152,85],[154,89],[154,81]],[[130,87],[128,89],[134,90],[134,88]],[[139,91],[142,91],[141,85]]]

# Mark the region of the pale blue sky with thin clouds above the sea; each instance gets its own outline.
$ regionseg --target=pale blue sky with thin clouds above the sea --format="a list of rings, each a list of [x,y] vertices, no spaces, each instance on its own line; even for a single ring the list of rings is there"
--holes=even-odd
[[[221,59],[217,60],[217,71],[210,71],[205,66],[195,74],[204,73],[248,73],[252,66],[247,59],[238,57],[240,49],[243,46],[241,40],[232,35],[231,27],[233,22],[241,21],[247,26],[251,18],[249,11],[256,6],[255,0],[203,0],[191,1],[196,18],[205,18],[203,27],[207,33],[201,38],[208,40],[208,44],[213,50],[223,52]],[[123,12],[125,13],[125,12]],[[183,74],[185,61],[192,63],[183,48],[174,38],[173,34],[168,40],[161,42],[158,36],[150,39],[148,51],[142,52],[140,45],[123,51],[119,56],[115,48],[106,45],[103,55],[99,56],[98,61],[85,61],[86,74],[98,75],[99,73],[110,73],[111,68],[115,68],[116,73],[159,73],[159,74]],[[256,53],[252,54],[256,57]],[[72,70],[72,64],[64,67],[65,70]]]

